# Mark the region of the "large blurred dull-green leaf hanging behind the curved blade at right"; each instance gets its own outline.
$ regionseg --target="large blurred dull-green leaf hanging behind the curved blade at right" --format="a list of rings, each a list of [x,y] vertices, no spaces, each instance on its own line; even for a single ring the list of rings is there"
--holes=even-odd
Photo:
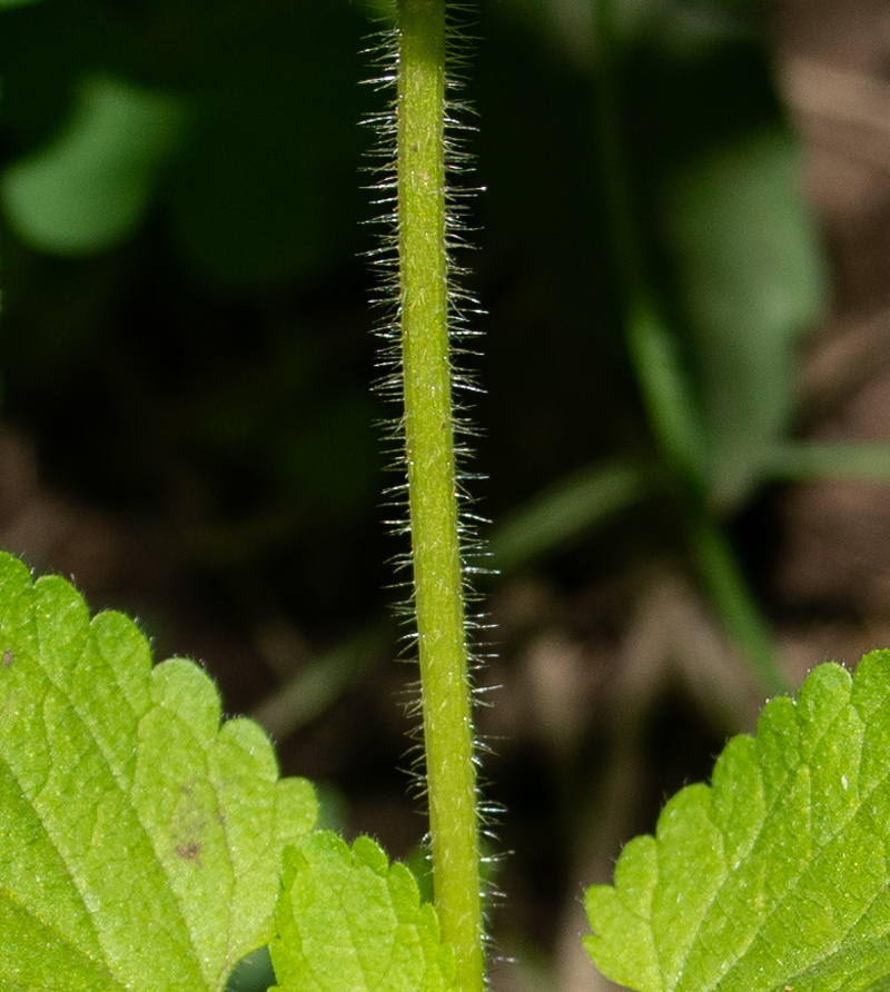
[[[793,408],[794,348],[821,313],[825,272],[783,128],[690,161],[666,190],[681,298],[712,453],[712,493],[738,505]]]

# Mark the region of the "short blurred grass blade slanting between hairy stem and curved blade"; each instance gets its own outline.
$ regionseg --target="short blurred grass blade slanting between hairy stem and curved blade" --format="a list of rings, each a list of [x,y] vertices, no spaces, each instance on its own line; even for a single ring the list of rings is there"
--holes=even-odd
[[[494,565],[511,572],[649,496],[650,466],[613,463],[561,479],[502,524],[490,542]]]

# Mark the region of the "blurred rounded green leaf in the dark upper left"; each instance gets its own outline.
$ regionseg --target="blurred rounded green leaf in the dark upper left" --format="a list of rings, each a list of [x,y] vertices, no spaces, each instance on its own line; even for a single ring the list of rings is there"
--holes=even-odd
[[[91,77],[67,127],[37,155],[10,166],[0,198],[33,248],[91,255],[123,240],[141,219],[159,171],[182,132],[172,96]]]

